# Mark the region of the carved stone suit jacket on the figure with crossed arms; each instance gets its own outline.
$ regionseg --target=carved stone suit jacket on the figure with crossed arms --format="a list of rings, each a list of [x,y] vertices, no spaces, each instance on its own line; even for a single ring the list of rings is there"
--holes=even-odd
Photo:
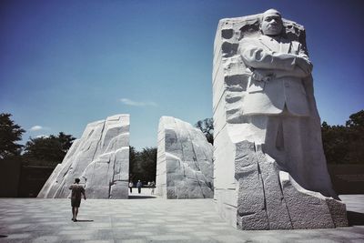
[[[244,38],[239,50],[245,65],[254,70],[282,75],[269,81],[258,81],[250,76],[247,95],[244,98],[243,115],[275,115],[283,111],[295,116],[309,116],[308,98],[302,80],[310,74],[312,66],[301,44],[281,38],[276,45],[267,35]],[[307,68],[298,66],[302,63]]]

